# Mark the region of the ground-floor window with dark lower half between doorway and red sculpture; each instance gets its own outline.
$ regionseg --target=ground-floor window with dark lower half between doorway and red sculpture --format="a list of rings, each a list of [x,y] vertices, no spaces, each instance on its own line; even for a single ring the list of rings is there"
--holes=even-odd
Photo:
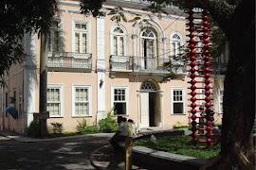
[[[171,88],[171,95],[172,95],[172,113],[184,114],[185,113],[185,89]]]

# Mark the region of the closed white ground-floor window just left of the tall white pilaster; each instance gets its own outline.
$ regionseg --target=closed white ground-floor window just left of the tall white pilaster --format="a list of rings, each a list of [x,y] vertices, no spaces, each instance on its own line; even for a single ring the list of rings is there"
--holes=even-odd
[[[73,116],[91,115],[91,86],[74,85],[73,86]]]

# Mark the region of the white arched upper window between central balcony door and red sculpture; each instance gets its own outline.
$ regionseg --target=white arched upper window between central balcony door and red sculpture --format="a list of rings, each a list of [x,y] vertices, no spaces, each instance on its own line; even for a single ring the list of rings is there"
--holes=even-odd
[[[171,57],[178,58],[183,52],[183,38],[179,32],[171,34]]]

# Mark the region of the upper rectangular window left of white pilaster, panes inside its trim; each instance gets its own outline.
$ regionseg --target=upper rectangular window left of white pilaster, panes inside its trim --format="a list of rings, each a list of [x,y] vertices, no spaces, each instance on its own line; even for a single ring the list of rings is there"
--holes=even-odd
[[[75,23],[75,52],[88,53],[87,24]]]

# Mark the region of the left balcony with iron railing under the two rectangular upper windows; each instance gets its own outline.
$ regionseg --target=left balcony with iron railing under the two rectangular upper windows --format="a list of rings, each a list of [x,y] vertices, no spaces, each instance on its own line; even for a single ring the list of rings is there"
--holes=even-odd
[[[49,52],[48,71],[91,72],[92,54]]]

